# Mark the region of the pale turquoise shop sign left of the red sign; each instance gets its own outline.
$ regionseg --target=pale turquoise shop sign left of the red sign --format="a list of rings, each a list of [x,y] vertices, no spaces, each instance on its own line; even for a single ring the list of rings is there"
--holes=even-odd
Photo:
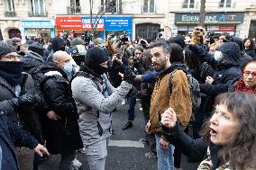
[[[54,22],[50,20],[32,21],[32,20],[22,20],[23,28],[54,28]]]

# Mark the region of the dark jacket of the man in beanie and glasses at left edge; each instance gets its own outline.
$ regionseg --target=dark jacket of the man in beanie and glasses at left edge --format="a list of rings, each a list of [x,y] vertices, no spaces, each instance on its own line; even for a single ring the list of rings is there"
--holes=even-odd
[[[35,103],[34,107],[20,106],[17,103],[14,88],[2,76],[0,76],[0,94],[0,108],[8,113],[8,116],[13,121],[21,122],[23,130],[29,131],[33,137],[42,142],[41,119],[38,112],[42,108],[41,105]],[[23,82],[21,84],[20,95],[23,94],[38,94],[32,76],[26,73],[23,73]]]

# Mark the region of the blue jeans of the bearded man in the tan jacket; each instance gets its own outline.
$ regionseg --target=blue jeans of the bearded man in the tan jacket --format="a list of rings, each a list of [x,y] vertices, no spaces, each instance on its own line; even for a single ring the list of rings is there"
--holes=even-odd
[[[173,150],[174,147],[169,144],[169,149],[164,150],[160,148],[160,137],[155,135],[156,138],[156,148],[158,156],[158,170],[174,170],[173,161]]]

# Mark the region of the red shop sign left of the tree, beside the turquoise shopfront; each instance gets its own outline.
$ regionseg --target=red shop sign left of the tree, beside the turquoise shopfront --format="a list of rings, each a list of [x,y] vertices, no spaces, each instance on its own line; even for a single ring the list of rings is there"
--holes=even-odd
[[[56,16],[57,30],[82,30],[81,16]]]

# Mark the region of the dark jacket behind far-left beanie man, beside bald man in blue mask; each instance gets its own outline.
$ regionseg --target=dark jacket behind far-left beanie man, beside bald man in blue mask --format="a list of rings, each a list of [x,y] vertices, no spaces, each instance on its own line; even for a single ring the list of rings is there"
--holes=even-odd
[[[38,67],[43,64],[42,57],[38,53],[31,50],[28,51],[25,56],[23,56],[22,61],[24,63],[24,71],[27,73],[29,73],[33,67]]]

